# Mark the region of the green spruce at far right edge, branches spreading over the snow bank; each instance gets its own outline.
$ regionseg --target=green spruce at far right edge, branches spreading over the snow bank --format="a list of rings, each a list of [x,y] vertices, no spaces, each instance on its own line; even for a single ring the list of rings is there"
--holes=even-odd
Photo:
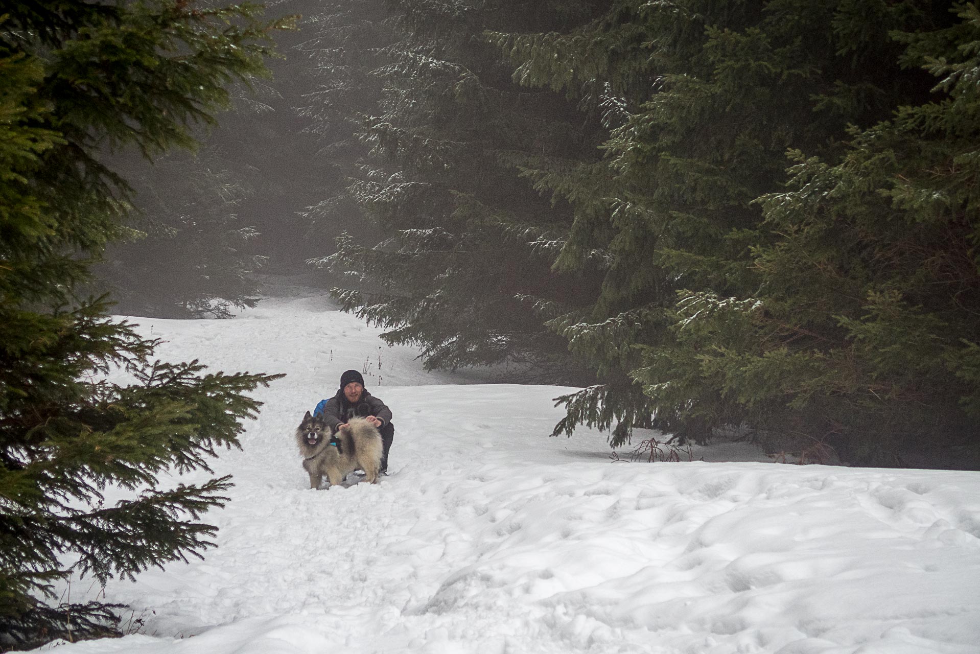
[[[980,13],[956,13],[891,34],[931,99],[853,127],[837,157],[793,152],[747,236],[755,292],[685,298],[677,352],[699,360],[650,357],[644,377],[693,364],[758,427],[850,461],[980,466]]]

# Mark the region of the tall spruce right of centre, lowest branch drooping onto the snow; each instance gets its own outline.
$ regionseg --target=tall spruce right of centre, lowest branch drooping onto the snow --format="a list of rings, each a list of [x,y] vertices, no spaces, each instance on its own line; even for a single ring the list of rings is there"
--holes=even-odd
[[[746,422],[783,433],[816,425],[823,410],[804,411],[786,387],[757,396],[756,383],[717,370],[719,348],[752,342],[732,317],[760,311],[753,253],[780,237],[757,198],[786,182],[788,149],[835,161],[850,125],[874,126],[926,97],[933,83],[902,60],[896,34],[948,25],[946,10],[919,0],[619,0],[570,34],[492,35],[516,79],[597,103],[611,121],[605,171],[577,176],[594,185],[527,167],[576,207],[559,269],[596,250],[609,262],[599,300],[552,322],[612,379],[564,398],[559,430],[620,421],[621,442],[645,420],[697,439]],[[786,273],[784,285],[801,284]],[[823,283],[833,292],[831,279]],[[784,308],[827,307],[789,292]],[[823,347],[805,333],[783,335],[794,347]]]

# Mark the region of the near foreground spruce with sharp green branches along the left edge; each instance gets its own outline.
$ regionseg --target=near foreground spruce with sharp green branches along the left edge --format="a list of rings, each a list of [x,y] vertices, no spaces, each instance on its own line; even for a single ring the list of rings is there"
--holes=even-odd
[[[226,85],[263,73],[259,8],[183,0],[5,3],[0,16],[0,648],[117,633],[113,607],[52,606],[73,572],[131,577],[200,552],[228,478],[161,487],[237,445],[274,378],[152,359],[155,341],[74,290],[123,233],[100,159],[193,147]],[[105,379],[124,367],[136,382]],[[107,485],[131,499],[103,502]]]

